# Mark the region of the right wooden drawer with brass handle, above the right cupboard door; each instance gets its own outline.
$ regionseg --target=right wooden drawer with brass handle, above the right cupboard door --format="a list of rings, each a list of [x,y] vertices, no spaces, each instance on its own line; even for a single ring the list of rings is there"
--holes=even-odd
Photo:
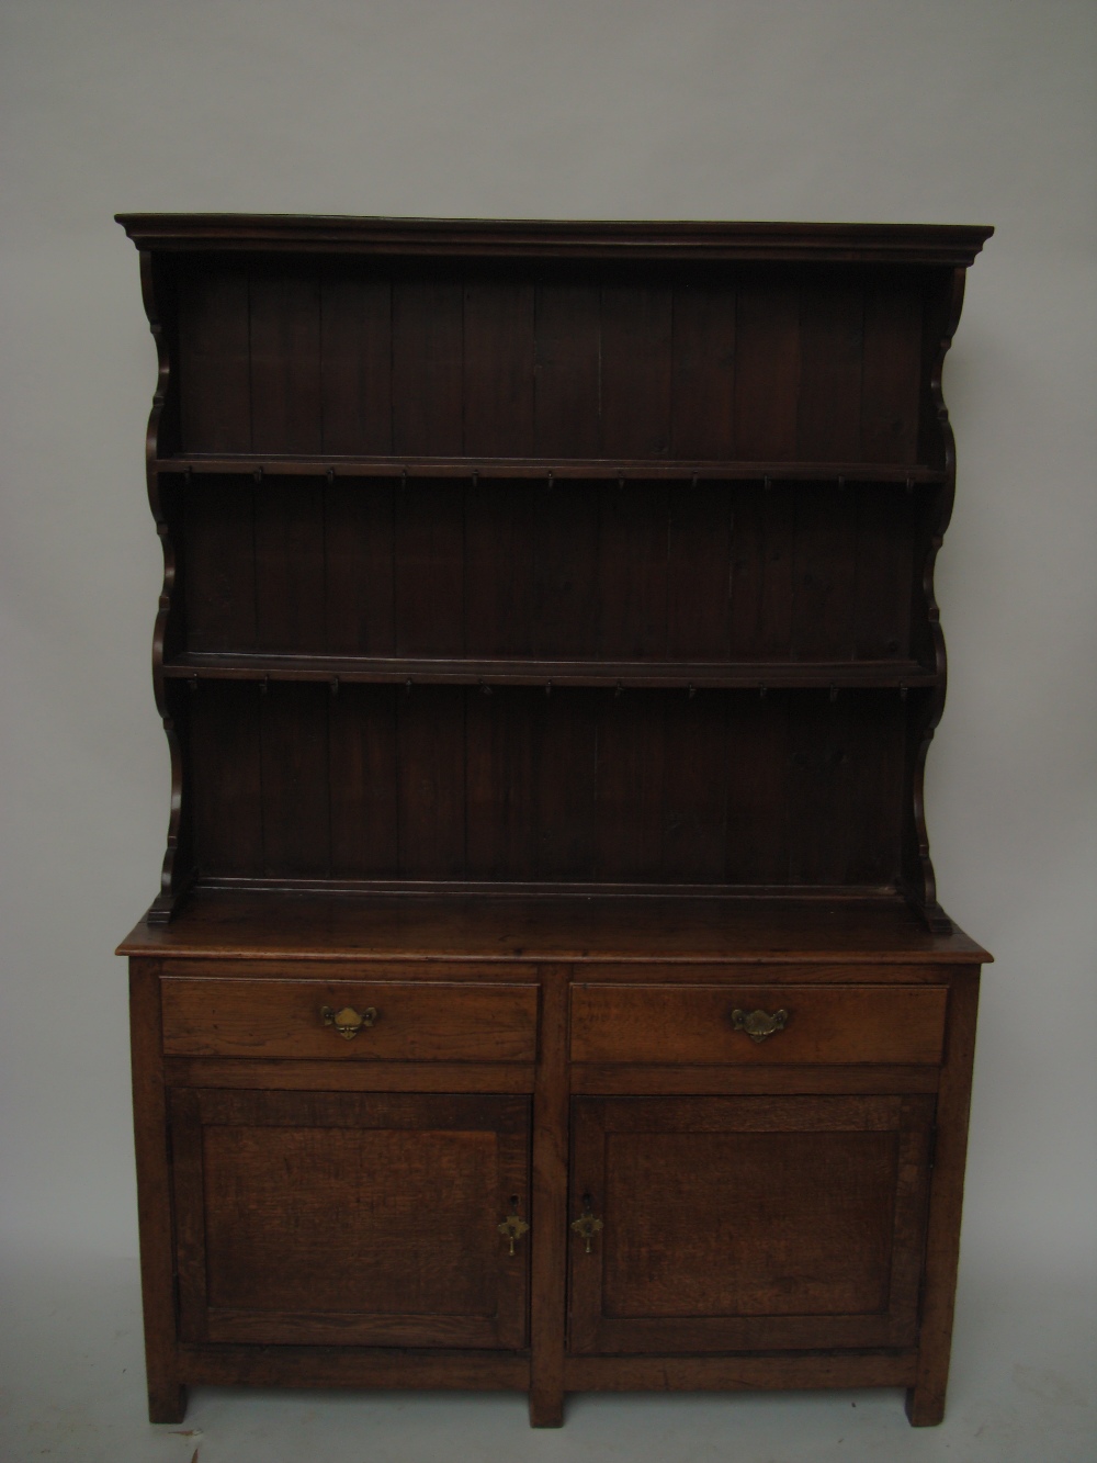
[[[945,986],[576,985],[570,1052],[573,1062],[935,1065],[946,1001]],[[783,1024],[755,1040],[740,1026],[755,1011],[784,1012]]]

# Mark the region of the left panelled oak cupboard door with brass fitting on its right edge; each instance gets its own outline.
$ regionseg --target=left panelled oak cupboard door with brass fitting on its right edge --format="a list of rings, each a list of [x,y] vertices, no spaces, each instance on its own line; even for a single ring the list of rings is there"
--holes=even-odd
[[[527,1344],[527,1097],[174,1088],[180,1333]]]

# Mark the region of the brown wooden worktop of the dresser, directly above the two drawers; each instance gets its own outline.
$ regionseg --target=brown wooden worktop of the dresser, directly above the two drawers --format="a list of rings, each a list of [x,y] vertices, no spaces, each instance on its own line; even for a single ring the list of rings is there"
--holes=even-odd
[[[415,699],[414,693],[410,698]],[[556,696],[551,698],[556,701]],[[663,971],[759,961],[819,964],[829,977],[863,967],[869,979],[911,982],[913,966],[981,964],[990,957],[960,930],[933,935],[901,900],[592,898],[373,895],[202,891],[165,928],[137,925],[120,955],[235,961],[598,961]],[[784,974],[783,974],[784,979]]]

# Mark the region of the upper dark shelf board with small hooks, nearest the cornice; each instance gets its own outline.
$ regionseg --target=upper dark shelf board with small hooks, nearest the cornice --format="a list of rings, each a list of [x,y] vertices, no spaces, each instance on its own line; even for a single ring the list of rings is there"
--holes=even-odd
[[[940,483],[945,474],[921,462],[715,462],[608,458],[472,458],[472,456],[284,456],[240,452],[189,454],[157,458],[157,473],[216,473],[260,477],[491,477],[491,478],[598,478],[651,481],[850,481]]]

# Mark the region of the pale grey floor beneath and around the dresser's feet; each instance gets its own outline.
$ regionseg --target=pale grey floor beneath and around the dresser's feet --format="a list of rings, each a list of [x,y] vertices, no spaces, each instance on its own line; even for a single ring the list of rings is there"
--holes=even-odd
[[[587,1396],[531,1432],[525,1399],[199,1388],[145,1421],[137,1268],[25,1263],[0,1279],[0,1459],[72,1463],[1091,1463],[1094,1298],[965,1268],[949,1409],[913,1429],[898,1391]]]

